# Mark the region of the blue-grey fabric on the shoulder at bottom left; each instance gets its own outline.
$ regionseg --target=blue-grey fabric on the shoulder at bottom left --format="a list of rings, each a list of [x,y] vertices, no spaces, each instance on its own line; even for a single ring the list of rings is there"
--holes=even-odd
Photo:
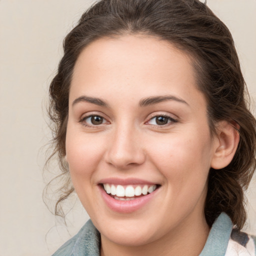
[[[66,241],[52,256],[98,256],[100,235],[91,220]]]

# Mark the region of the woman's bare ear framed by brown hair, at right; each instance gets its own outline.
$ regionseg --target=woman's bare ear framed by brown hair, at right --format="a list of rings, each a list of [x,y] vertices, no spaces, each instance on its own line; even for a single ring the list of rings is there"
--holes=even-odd
[[[211,159],[212,168],[221,169],[231,162],[239,143],[239,128],[236,122],[218,122],[216,145]]]

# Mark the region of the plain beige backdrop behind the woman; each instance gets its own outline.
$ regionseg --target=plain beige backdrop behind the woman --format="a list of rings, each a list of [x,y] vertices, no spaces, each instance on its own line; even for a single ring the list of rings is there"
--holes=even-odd
[[[47,87],[64,35],[93,0],[0,0],[0,256],[51,255],[87,219],[74,196],[67,228],[41,193]],[[256,0],[208,0],[231,30],[248,89],[256,98]],[[256,181],[248,190],[256,233]]]

